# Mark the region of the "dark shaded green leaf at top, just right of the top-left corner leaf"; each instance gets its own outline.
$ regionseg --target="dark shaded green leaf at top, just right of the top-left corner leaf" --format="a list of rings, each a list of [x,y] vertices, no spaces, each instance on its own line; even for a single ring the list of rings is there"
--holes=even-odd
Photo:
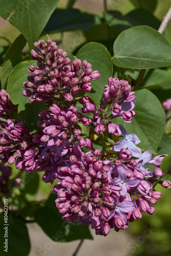
[[[45,27],[46,32],[89,30],[96,23],[93,14],[77,9],[56,9]]]

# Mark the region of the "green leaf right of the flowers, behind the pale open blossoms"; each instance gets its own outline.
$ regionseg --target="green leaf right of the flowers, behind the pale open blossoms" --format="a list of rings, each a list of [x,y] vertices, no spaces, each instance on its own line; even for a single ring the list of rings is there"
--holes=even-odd
[[[153,154],[157,154],[165,125],[162,105],[158,98],[146,89],[136,91],[135,101],[136,115],[131,123],[124,122],[120,117],[113,122],[123,125],[127,134],[135,133],[141,141],[137,146],[142,151],[151,150]]]

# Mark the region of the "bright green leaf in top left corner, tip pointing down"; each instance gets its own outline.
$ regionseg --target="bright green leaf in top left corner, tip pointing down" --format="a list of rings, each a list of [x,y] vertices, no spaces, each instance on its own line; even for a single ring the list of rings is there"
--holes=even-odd
[[[16,27],[27,39],[29,48],[38,39],[59,0],[0,0],[0,15]]]

